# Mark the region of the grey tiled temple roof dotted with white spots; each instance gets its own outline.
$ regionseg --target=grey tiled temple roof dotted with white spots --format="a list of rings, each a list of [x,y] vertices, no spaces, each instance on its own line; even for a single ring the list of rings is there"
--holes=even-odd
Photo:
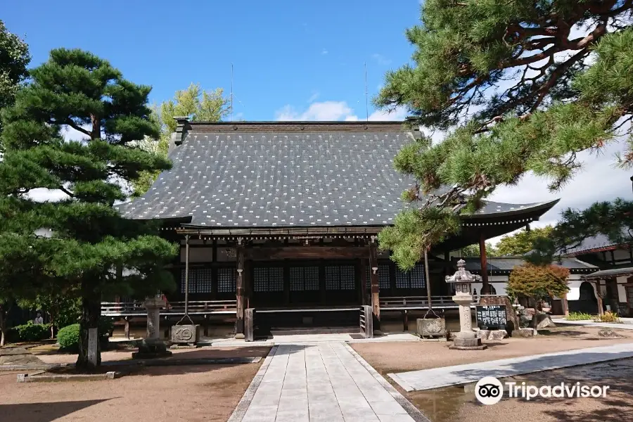
[[[402,191],[413,183],[392,162],[410,141],[406,132],[360,126],[358,131],[191,131],[170,153],[172,170],[162,172],[144,196],[118,208],[128,218],[191,216],[191,224],[209,227],[392,224],[403,208]],[[540,204],[490,202],[478,214],[535,205]]]

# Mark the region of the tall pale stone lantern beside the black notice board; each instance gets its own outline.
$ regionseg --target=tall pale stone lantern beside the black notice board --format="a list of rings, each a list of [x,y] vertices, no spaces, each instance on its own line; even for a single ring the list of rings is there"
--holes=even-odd
[[[466,261],[457,261],[457,271],[452,276],[446,276],[446,282],[455,286],[453,301],[459,305],[459,333],[457,333],[451,349],[457,350],[484,350],[485,345],[477,338],[473,331],[473,316],[471,316],[471,284],[481,281],[481,276],[466,271]]]

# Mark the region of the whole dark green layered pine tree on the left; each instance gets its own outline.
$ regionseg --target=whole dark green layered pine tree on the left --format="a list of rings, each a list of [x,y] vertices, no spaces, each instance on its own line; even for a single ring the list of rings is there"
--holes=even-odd
[[[158,136],[146,105],[151,87],[77,49],[51,51],[31,77],[3,114],[0,286],[32,286],[32,294],[51,283],[76,288],[82,298],[77,367],[90,369],[88,330],[98,327],[102,298],[174,288],[164,266],[176,246],[155,235],[155,224],[123,219],[113,207],[140,172],[167,170],[170,162],[132,147]],[[65,141],[63,127],[84,139]],[[58,189],[67,198],[37,202],[34,188]]]

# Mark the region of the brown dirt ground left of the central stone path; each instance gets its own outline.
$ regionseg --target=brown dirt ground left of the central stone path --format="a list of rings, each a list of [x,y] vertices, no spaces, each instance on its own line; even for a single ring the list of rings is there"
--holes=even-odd
[[[179,350],[188,357],[264,357],[269,347]],[[129,352],[104,352],[117,360]],[[174,353],[176,354],[176,353]],[[74,355],[41,359],[74,362]],[[62,359],[63,358],[63,359]],[[0,421],[226,421],[263,360],[257,364],[146,367],[109,381],[16,383],[0,371]]]

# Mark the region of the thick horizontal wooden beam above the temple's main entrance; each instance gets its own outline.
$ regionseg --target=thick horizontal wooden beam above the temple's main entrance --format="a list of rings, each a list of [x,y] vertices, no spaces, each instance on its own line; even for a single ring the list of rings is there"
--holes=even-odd
[[[288,246],[288,248],[249,248],[250,260],[364,258],[367,249],[360,246]]]

